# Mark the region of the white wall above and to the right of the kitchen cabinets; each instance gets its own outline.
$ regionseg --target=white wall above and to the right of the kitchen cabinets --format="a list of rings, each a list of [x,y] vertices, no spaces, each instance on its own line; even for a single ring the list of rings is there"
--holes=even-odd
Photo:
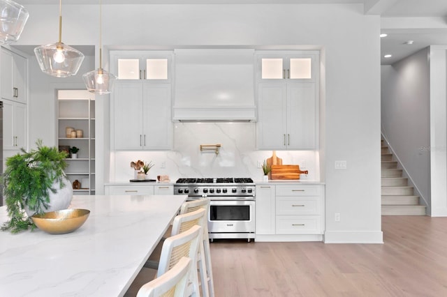
[[[54,43],[57,6],[27,8],[31,17],[20,44]],[[67,5],[63,11],[63,41],[70,45],[95,44],[97,35],[92,28],[97,27],[97,7]],[[54,38],[49,32],[54,32]],[[359,4],[103,7],[103,44],[110,47],[322,48],[326,242],[382,242],[379,33],[379,17],[363,15]],[[53,116],[51,112],[42,116]],[[334,169],[335,160],[346,160],[347,169]],[[340,222],[334,221],[335,213],[341,214]]]

